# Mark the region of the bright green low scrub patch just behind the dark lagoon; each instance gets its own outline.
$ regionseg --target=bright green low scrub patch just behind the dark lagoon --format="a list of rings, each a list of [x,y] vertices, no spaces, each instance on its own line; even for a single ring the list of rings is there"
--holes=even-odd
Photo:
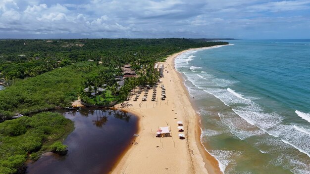
[[[93,62],[76,63],[42,75],[16,81],[0,90],[0,119],[69,106],[86,78],[108,69]]]

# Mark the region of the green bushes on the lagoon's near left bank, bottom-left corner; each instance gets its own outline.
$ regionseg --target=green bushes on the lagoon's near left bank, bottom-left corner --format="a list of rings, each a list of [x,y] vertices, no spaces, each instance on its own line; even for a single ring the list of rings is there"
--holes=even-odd
[[[66,153],[58,139],[73,131],[73,122],[61,114],[44,112],[0,124],[0,174],[24,170],[26,159],[36,159],[46,151]]]

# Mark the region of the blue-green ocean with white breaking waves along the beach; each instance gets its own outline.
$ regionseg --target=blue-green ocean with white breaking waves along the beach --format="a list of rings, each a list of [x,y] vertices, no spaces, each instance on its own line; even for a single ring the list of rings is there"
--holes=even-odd
[[[225,174],[310,174],[310,40],[234,40],[175,59]]]

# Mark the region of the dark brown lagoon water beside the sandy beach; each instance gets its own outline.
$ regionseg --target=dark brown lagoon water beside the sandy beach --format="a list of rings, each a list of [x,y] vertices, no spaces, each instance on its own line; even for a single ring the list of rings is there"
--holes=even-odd
[[[47,153],[28,164],[28,174],[106,174],[138,130],[137,117],[120,110],[86,108],[60,112],[75,126],[64,140],[67,155]]]

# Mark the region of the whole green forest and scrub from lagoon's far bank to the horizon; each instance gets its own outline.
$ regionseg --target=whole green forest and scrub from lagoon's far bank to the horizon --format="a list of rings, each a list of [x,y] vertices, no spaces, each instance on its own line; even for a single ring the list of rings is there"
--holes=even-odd
[[[68,106],[78,93],[95,104],[124,100],[134,86],[156,82],[152,69],[156,61],[184,49],[218,44],[228,43],[175,38],[2,40],[0,72],[9,87],[0,90],[0,119]],[[140,77],[126,80],[119,88],[114,79],[128,63]],[[98,96],[95,89],[103,84],[109,92]],[[95,98],[83,92],[90,86]]]

